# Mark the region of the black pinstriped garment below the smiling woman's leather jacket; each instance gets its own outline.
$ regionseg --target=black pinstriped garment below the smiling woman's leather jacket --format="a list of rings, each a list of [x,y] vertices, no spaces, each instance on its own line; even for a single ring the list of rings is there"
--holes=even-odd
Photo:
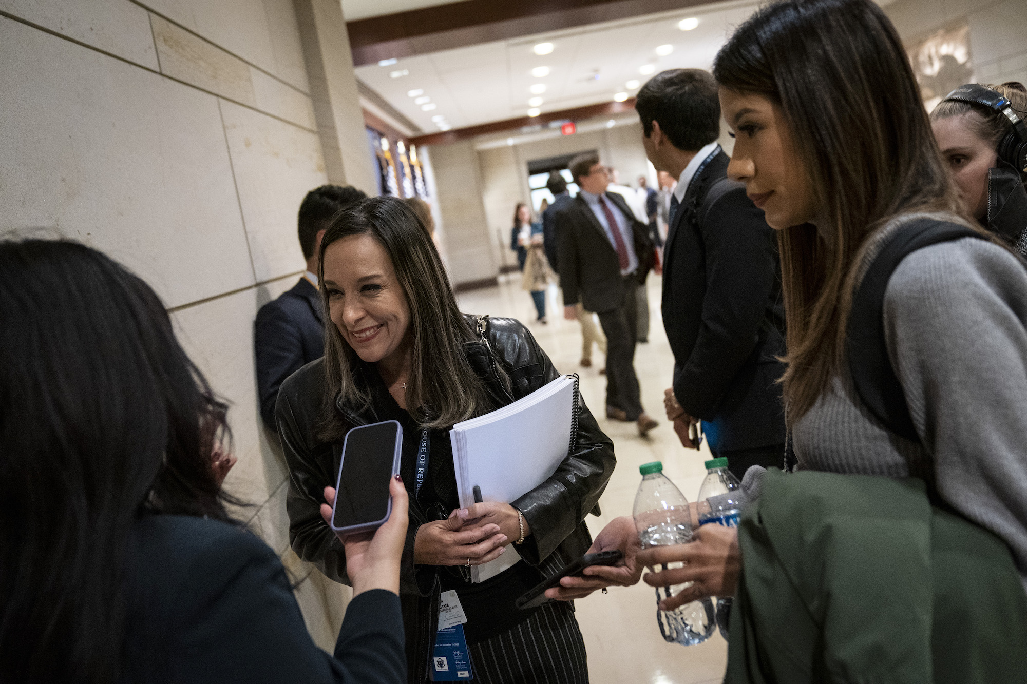
[[[584,641],[564,601],[467,650],[477,684],[588,684]]]

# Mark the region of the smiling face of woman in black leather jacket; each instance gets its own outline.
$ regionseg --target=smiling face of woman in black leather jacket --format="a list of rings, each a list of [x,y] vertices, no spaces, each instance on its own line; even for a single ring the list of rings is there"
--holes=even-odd
[[[392,359],[410,346],[410,307],[385,248],[371,235],[350,235],[325,250],[329,317],[369,364]]]

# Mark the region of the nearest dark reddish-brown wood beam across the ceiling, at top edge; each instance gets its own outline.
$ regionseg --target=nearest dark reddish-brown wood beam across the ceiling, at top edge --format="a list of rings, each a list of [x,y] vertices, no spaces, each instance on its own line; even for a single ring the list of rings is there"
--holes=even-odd
[[[346,24],[354,66],[685,9],[708,0],[463,0]]]

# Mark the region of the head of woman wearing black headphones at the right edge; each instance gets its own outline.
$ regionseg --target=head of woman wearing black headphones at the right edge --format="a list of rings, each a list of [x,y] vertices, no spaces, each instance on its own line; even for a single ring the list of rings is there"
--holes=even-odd
[[[1020,116],[1027,116],[1027,90],[1021,83],[985,87],[1005,97]],[[930,125],[966,208],[975,219],[984,219],[988,214],[988,169],[998,165],[999,143],[1013,130],[1013,124],[984,105],[943,100],[930,112]]]

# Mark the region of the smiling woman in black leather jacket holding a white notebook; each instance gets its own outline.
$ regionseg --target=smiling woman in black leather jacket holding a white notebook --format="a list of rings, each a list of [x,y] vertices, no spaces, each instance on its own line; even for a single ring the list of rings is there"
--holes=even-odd
[[[573,607],[521,611],[514,602],[588,548],[583,519],[613,471],[610,440],[582,404],[576,447],[548,480],[511,504],[459,509],[449,428],[559,374],[517,320],[459,312],[434,245],[395,198],[365,200],[337,217],[321,241],[319,269],[326,355],[282,384],[276,408],[291,474],[293,548],[349,583],[343,547],[318,512],[322,492],[335,482],[348,429],[397,420],[410,493],[400,588],[410,681],[426,679],[439,597],[455,590],[476,682],[587,682]],[[429,458],[418,488],[425,433]],[[518,542],[522,523],[517,550],[524,562],[482,583],[467,581],[466,566]]]

